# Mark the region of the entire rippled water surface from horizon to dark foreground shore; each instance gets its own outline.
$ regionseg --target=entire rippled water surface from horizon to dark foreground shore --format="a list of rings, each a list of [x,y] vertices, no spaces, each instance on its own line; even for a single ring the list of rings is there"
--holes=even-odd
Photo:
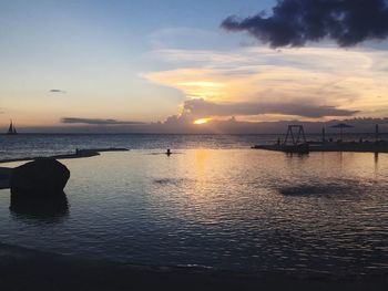
[[[9,189],[0,190],[0,242],[121,263],[296,276],[388,273],[388,154],[251,148],[276,139],[2,135],[0,159],[75,148],[130,150],[61,160],[71,177],[54,208],[20,205]]]

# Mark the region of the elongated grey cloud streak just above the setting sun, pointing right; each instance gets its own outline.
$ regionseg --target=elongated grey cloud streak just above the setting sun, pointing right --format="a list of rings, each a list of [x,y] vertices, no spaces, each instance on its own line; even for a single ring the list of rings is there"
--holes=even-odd
[[[320,106],[300,103],[213,103],[205,100],[190,100],[184,108],[194,116],[232,116],[282,114],[302,117],[319,118],[324,116],[351,116],[356,111],[338,110],[334,106]]]

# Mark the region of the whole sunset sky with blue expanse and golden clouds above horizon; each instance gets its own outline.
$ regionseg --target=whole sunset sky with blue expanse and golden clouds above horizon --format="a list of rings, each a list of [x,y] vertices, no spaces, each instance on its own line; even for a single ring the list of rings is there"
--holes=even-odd
[[[388,117],[386,1],[327,2],[0,0],[0,128]]]

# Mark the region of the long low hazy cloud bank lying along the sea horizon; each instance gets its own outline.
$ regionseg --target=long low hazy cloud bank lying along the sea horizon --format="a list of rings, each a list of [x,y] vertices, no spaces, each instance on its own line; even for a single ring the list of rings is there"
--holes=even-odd
[[[331,125],[345,122],[355,127],[347,132],[374,133],[375,125],[379,124],[381,132],[388,128],[388,118],[341,118],[321,121],[300,121],[298,118],[283,118],[282,121],[266,122],[244,122],[239,118],[228,118],[223,121],[213,119],[206,124],[195,125],[193,122],[182,122],[182,116],[171,116],[166,122],[145,123],[136,126],[116,125],[116,126],[48,126],[48,127],[22,127],[23,132],[29,133],[150,133],[150,134],[285,134],[289,124],[302,124],[306,134],[320,133],[323,126],[326,133],[338,133],[338,129],[331,128]],[[274,137],[274,139],[277,137]],[[275,142],[275,141],[274,141]]]

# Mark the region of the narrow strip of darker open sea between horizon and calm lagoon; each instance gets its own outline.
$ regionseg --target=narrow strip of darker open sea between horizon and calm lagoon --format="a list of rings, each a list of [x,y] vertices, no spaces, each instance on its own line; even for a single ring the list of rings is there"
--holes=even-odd
[[[249,148],[255,144],[275,143],[284,135],[157,135],[157,134],[21,134],[0,135],[0,160],[31,156],[74,153],[75,148],[125,147],[131,149]],[[374,141],[374,134],[345,134],[345,141]],[[320,135],[307,135],[320,141]],[[328,133],[326,138],[337,139]],[[380,134],[388,139],[388,134]]]

